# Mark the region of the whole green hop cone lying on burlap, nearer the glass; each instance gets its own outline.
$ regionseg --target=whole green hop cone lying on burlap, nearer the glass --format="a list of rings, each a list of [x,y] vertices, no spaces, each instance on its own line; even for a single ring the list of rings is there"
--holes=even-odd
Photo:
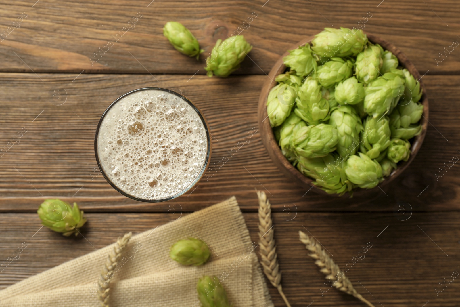
[[[204,241],[189,237],[174,243],[169,256],[184,266],[201,266],[209,260],[211,252]]]

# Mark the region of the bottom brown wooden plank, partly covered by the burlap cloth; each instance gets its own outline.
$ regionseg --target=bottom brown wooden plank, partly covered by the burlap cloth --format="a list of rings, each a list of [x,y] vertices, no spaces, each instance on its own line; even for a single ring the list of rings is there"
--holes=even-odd
[[[258,241],[257,214],[244,214],[251,237]],[[162,214],[87,214],[84,237],[63,237],[40,229],[36,214],[0,214],[1,261],[27,243],[19,259],[0,273],[0,289],[115,241],[125,232],[138,233],[176,219]],[[460,284],[435,289],[458,267],[459,212],[414,213],[398,220],[391,213],[299,213],[295,218],[274,214],[277,253],[282,285],[293,306],[365,306],[350,295],[331,289],[307,256],[298,231],[316,237],[346,272],[357,291],[375,306],[454,307],[459,304]],[[38,232],[37,232],[38,231]],[[368,244],[370,243],[370,244]],[[371,246],[356,264],[357,253]],[[359,255],[362,257],[362,254]],[[348,265],[348,266],[347,266]],[[345,269],[344,269],[345,270]],[[275,306],[285,306],[273,287]],[[438,288],[440,290],[440,288]],[[381,304],[381,305],[380,305]]]

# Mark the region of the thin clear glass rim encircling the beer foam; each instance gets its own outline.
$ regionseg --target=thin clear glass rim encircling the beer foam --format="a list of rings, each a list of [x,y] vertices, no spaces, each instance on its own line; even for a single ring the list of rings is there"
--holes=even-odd
[[[203,123],[203,126],[206,130],[206,139],[207,139],[207,150],[206,150],[206,160],[205,160],[205,163],[203,164],[203,167],[201,168],[201,171],[200,173],[196,176],[196,178],[190,183],[190,185],[188,185],[184,190],[170,196],[170,197],[165,197],[165,198],[160,198],[160,199],[145,199],[145,198],[138,198],[138,197],[135,197],[135,196],[132,196],[130,194],[128,194],[127,192],[125,191],[122,191],[118,186],[116,186],[112,180],[109,179],[109,177],[107,176],[107,174],[105,174],[104,172],[104,169],[102,168],[101,166],[101,162],[99,161],[99,154],[98,154],[98,135],[99,135],[99,129],[101,127],[101,124],[104,120],[104,117],[107,115],[107,113],[109,112],[109,110],[115,105],[118,103],[118,101],[120,101],[120,99],[122,98],[125,98],[126,96],[132,94],[132,93],[136,93],[136,92],[139,92],[139,91],[144,91],[144,90],[160,90],[160,91],[163,91],[163,92],[167,92],[167,93],[171,93],[171,94],[175,94],[177,95],[178,97],[184,99],[185,102],[187,102],[195,111],[196,113],[198,114],[198,116],[200,116],[200,119],[201,119],[201,122]],[[170,89],[167,89],[167,88],[162,88],[162,87],[143,87],[143,88],[138,88],[136,90],[133,90],[131,92],[128,92],[128,93],[125,93],[123,95],[121,95],[119,98],[116,98],[114,102],[112,102],[108,107],[107,109],[104,111],[104,113],[102,114],[101,118],[99,119],[99,122],[98,122],[98,127],[96,128],[96,133],[94,135],[94,154],[96,156],[96,162],[98,163],[98,167],[99,167],[99,170],[101,171],[101,174],[104,176],[105,180],[107,180],[107,182],[109,183],[109,185],[111,185],[116,191],[118,191],[119,193],[121,193],[122,195],[126,196],[126,197],[129,197],[131,199],[134,199],[134,200],[137,200],[137,201],[141,201],[141,202],[145,202],[145,203],[161,203],[161,202],[166,202],[168,200],[171,200],[171,199],[174,199],[176,197],[179,197],[181,195],[183,195],[185,192],[187,191],[190,191],[190,189],[192,187],[194,187],[198,181],[201,180],[201,178],[203,177],[204,173],[206,172],[208,166],[209,166],[209,163],[211,161],[211,147],[212,147],[212,139],[211,139],[211,134],[209,132],[209,128],[208,128],[208,124],[207,124],[207,121],[206,121],[206,118],[203,116],[203,113],[201,112],[201,110],[187,97],[185,97],[184,95],[182,95],[182,93],[177,93],[176,91],[173,91],[173,90],[170,90]]]

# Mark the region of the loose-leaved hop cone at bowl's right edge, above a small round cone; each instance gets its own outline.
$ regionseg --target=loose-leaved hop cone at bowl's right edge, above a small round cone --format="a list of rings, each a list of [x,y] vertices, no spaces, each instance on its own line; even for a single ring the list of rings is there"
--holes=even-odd
[[[410,101],[408,104],[399,104],[390,115],[391,137],[398,139],[411,139],[419,135],[422,126],[415,125],[420,121],[423,105]]]

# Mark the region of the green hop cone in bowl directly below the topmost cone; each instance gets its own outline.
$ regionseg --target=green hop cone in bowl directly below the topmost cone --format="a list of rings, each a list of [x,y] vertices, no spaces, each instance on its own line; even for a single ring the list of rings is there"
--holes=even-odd
[[[353,62],[342,58],[331,58],[330,61],[318,67],[316,80],[323,87],[331,87],[337,82],[350,78],[353,74]]]

